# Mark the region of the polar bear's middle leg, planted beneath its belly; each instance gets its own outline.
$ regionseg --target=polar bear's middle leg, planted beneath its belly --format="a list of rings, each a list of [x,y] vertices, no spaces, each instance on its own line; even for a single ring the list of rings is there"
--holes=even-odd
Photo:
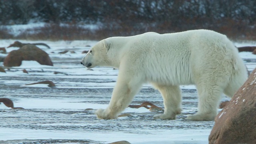
[[[181,114],[181,90],[180,86],[163,86],[153,84],[164,99],[164,114],[154,116],[155,119],[175,120],[177,114]]]

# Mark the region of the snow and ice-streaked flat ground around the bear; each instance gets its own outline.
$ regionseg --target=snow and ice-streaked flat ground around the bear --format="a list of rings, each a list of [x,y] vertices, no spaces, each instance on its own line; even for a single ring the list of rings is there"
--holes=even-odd
[[[0,47],[7,47],[16,40],[0,40]],[[12,110],[0,104],[1,144],[45,144],[45,143],[108,143],[127,140],[132,144],[206,144],[214,125],[210,122],[186,121],[186,114],[197,110],[197,93],[194,86],[181,86],[183,112],[177,120],[154,120],[160,112],[146,108],[126,108],[122,114],[131,116],[117,120],[99,120],[94,114],[98,108],[106,108],[115,85],[118,70],[96,67],[87,70],[80,60],[96,41],[26,41],[44,42],[51,49],[46,51],[54,66],[24,61],[21,66],[0,72],[0,98],[10,98],[14,106],[24,110]],[[237,46],[256,46],[256,42],[236,42]],[[6,48],[7,52],[17,48]],[[59,54],[64,50],[72,50]],[[7,54],[0,54],[6,56]],[[241,52],[250,71],[256,67],[256,55]],[[0,62],[3,66],[3,62]],[[26,69],[28,74],[23,73]],[[54,74],[54,72],[61,72]],[[45,84],[30,85],[33,82],[52,80],[56,88]],[[222,100],[229,100],[223,96]],[[162,97],[150,84],[145,84],[135,96],[132,104],[149,101],[163,107]],[[94,110],[86,110],[92,108]]]

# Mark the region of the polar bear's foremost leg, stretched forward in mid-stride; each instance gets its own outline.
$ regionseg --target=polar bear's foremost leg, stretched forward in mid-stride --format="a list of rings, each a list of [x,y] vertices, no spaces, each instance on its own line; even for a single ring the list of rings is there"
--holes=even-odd
[[[114,87],[112,97],[106,110],[99,109],[95,112],[100,119],[116,119],[125,108],[129,106],[135,94],[140,90],[142,81],[140,77],[134,75],[122,77],[119,71],[116,86]]]

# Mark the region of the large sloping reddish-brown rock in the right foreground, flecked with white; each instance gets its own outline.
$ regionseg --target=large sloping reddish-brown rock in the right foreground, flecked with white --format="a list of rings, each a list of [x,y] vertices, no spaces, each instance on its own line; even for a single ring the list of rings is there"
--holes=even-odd
[[[209,144],[256,144],[256,68],[216,116]]]

